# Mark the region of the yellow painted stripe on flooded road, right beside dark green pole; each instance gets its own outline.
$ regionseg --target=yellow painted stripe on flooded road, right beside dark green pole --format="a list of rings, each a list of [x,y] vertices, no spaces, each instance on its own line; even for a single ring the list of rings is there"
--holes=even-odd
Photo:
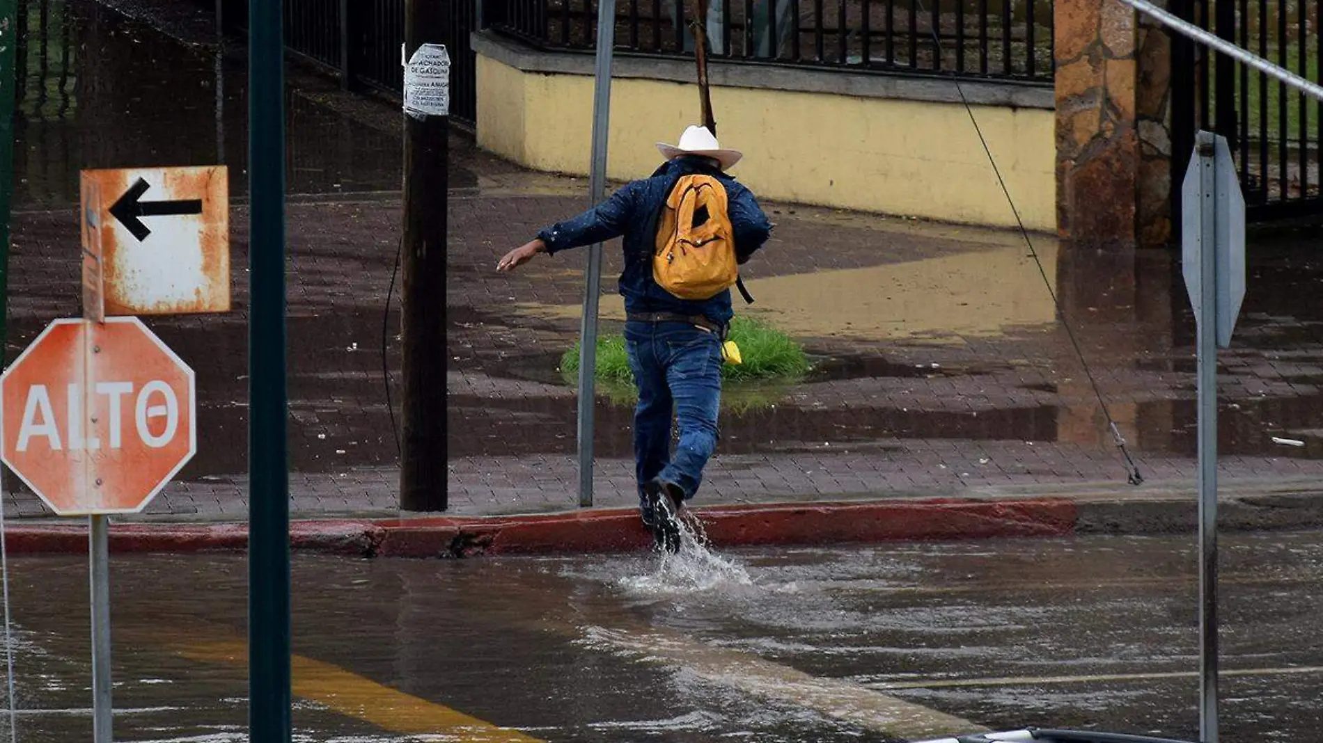
[[[180,643],[172,649],[192,661],[247,666],[247,644],[237,640]],[[294,656],[291,672],[295,697],[321,703],[390,732],[451,735],[458,740],[475,743],[542,743],[517,730],[497,727],[328,662]]]

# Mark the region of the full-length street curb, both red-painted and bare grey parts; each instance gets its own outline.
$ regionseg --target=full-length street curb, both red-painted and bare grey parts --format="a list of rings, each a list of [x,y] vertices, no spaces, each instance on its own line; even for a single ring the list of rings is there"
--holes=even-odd
[[[826,501],[691,509],[717,547],[955,541],[1084,534],[1185,534],[1197,528],[1192,497],[983,497]],[[1218,502],[1222,531],[1323,528],[1323,497],[1256,493]],[[85,554],[87,528],[9,522],[9,554]],[[635,509],[585,509],[508,517],[335,518],[290,522],[290,549],[359,558],[466,558],[593,554],[652,546]],[[247,549],[247,524],[112,524],[116,554]]]

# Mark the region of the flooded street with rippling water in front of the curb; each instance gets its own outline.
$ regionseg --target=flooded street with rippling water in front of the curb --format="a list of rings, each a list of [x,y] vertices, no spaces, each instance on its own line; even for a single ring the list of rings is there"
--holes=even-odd
[[[1193,739],[1193,543],[298,557],[294,723],[299,740],[336,742],[882,742],[1031,724]],[[1323,539],[1221,546],[1221,739],[1312,739]],[[245,739],[242,558],[111,563],[116,738]],[[21,740],[90,734],[85,570],[11,562]]]

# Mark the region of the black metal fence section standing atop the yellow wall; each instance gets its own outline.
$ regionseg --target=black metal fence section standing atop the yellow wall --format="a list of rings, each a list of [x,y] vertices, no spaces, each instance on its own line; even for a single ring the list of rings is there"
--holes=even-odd
[[[615,45],[688,54],[677,0],[618,0]],[[493,29],[544,49],[595,46],[591,0],[486,0]],[[713,57],[1050,82],[1050,0],[710,0]],[[934,33],[935,32],[935,33]]]

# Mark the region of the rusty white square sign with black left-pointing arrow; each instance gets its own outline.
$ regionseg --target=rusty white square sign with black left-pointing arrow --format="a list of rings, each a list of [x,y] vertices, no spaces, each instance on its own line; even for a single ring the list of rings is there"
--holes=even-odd
[[[224,165],[83,171],[82,202],[85,316],[229,312]]]

